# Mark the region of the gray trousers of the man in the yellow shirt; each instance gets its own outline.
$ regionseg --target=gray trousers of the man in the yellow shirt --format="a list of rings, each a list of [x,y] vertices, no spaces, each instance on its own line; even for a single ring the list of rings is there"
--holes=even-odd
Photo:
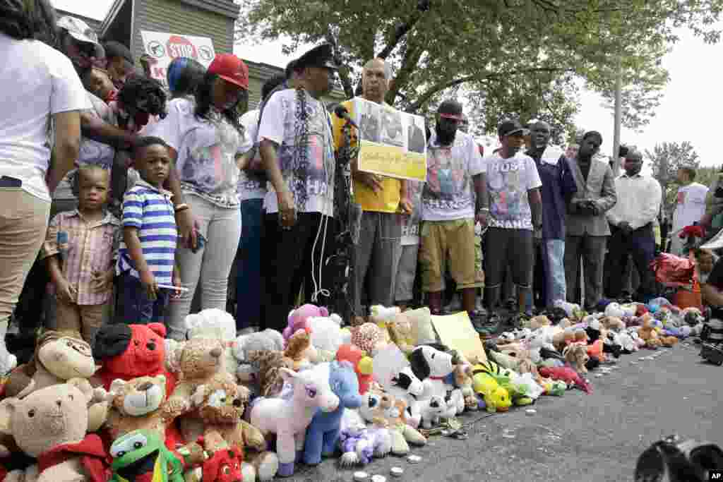
[[[361,215],[359,244],[354,249],[354,309],[394,303],[397,264],[401,251],[400,215],[393,212],[364,211]]]

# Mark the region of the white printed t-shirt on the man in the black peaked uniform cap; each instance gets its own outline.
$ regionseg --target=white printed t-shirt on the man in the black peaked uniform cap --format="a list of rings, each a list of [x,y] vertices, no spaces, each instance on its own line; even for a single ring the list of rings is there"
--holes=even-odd
[[[278,145],[277,157],[281,173],[286,186],[294,194],[296,210],[333,216],[335,159],[329,113],[323,103],[304,92],[309,123],[309,144],[306,152],[309,165],[306,173],[302,174],[302,166],[294,165],[298,127],[296,119],[299,111],[296,95],[296,90],[286,89],[271,96],[264,107],[258,138],[269,139]],[[298,205],[300,194],[307,197],[305,206]],[[266,212],[278,212],[278,200],[273,188],[266,194],[264,204]]]

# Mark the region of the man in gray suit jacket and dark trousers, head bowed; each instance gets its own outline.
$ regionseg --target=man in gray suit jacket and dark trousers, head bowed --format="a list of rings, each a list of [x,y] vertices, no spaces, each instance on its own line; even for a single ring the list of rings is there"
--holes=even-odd
[[[596,306],[602,297],[602,275],[605,247],[610,228],[605,212],[615,206],[615,179],[610,166],[593,156],[600,150],[602,135],[586,132],[575,159],[570,159],[578,191],[568,202],[565,216],[565,278],[568,301],[586,309]],[[580,259],[585,275],[584,300],[578,299]]]

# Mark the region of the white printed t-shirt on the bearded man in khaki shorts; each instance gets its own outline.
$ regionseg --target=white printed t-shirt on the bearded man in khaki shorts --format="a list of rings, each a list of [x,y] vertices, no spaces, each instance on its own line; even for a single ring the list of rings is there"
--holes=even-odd
[[[437,134],[427,143],[427,184],[422,189],[422,220],[474,218],[474,182],[484,173],[479,147],[469,134],[457,131],[451,146],[440,146]]]

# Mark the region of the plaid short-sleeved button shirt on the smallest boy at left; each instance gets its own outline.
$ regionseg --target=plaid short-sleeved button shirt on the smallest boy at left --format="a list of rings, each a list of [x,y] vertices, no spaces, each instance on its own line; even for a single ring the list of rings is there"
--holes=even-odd
[[[48,225],[40,259],[60,257],[63,277],[75,288],[75,303],[100,305],[111,299],[112,289],[95,293],[93,273],[105,274],[113,267],[119,241],[119,220],[106,212],[102,220],[89,223],[78,210],[60,212]]]

